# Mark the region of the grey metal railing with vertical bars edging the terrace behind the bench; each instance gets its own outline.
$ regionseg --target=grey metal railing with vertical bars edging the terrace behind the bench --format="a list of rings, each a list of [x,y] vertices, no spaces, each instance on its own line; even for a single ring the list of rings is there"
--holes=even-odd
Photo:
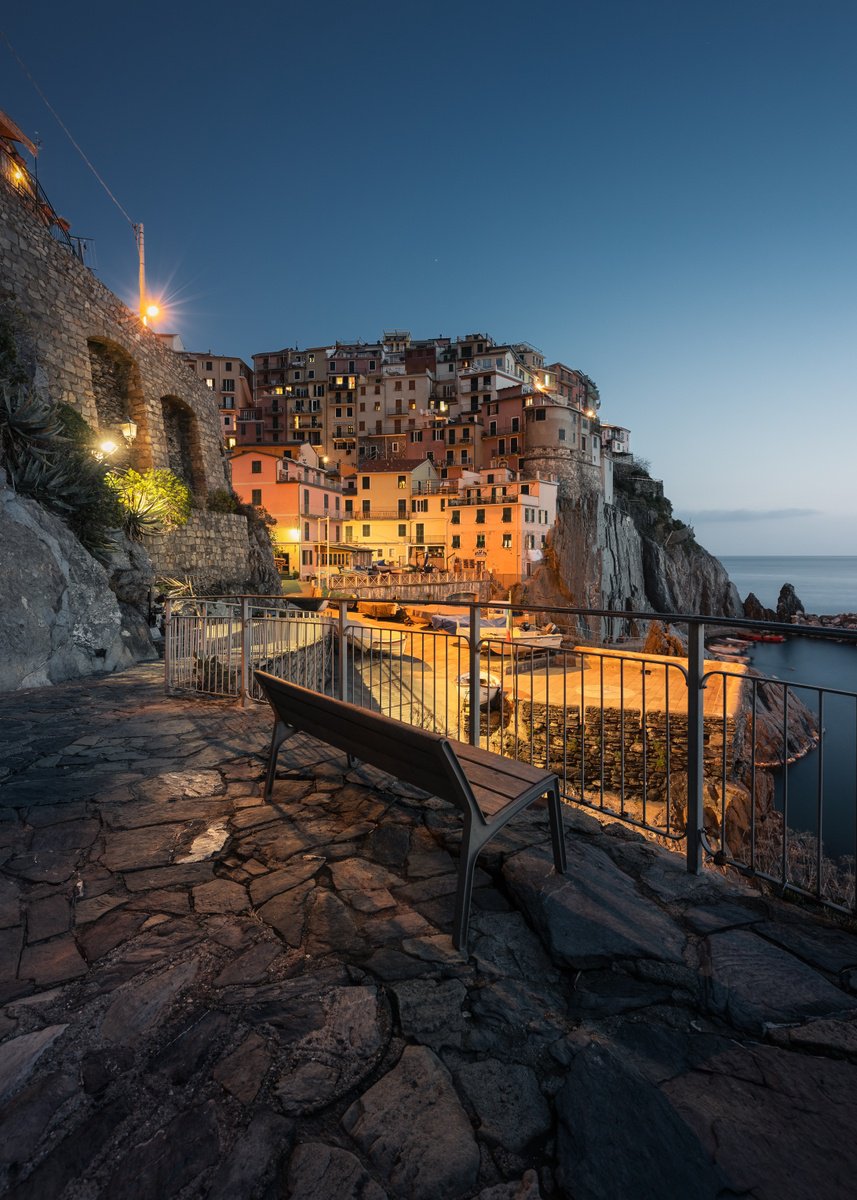
[[[567,800],[683,850],[694,874],[731,866],[857,912],[857,631],[539,607],[526,628],[507,604],[406,599],[394,582],[398,598],[366,610],[379,619],[347,600],[173,601],[167,685],[250,703],[262,667],[553,770]],[[679,656],[628,641],[655,619],[682,630]],[[853,690],[749,670],[750,643],[707,650],[707,628],[845,643]]]

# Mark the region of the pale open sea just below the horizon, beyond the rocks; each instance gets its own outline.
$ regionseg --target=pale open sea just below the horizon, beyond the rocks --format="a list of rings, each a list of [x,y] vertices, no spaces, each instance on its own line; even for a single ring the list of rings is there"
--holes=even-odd
[[[857,558],[791,556],[720,556],[741,599],[755,592],[766,608],[777,607],[784,583],[791,583],[807,612],[857,612]]]

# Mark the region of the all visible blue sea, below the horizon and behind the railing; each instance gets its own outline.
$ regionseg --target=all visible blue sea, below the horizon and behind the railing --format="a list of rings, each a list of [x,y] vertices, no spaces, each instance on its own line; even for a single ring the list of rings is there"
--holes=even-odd
[[[857,612],[857,557],[720,556],[742,600],[754,592],[768,608],[777,607],[784,583],[791,583],[808,613]],[[821,724],[825,730],[823,770],[820,755],[807,755],[789,768],[789,824],[819,833],[832,858],[857,851],[857,646],[793,637],[783,644],[753,647],[750,665],[771,679],[795,688],[801,700],[819,710],[819,688],[826,689]],[[815,684],[815,689],[799,688]],[[786,798],[783,773],[777,802]],[[821,793],[821,804],[819,803]],[[821,817],[821,822],[819,821]]]

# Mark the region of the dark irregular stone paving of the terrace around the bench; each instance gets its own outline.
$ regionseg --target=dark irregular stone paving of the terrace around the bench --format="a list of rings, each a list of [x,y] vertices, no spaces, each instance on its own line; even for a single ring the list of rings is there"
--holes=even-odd
[[[14,1200],[852,1196],[857,937],[568,812],[490,848],[158,667],[0,698]]]

